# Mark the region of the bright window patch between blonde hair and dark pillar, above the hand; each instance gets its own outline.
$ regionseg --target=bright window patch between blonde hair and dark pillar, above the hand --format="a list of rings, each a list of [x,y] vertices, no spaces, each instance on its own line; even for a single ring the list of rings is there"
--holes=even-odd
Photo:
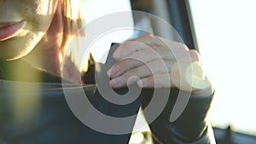
[[[90,25],[94,20],[101,19],[102,16],[113,14],[117,12],[131,11],[131,2],[129,0],[84,0],[85,2],[85,22],[86,25]],[[122,19],[129,23],[130,27],[133,27],[133,18],[131,15],[125,15]],[[115,21],[109,21],[109,24],[114,24]],[[102,24],[109,25],[109,24]],[[109,33],[102,33],[102,37],[99,37],[90,48],[90,53],[94,56],[94,59],[98,62],[104,63],[107,59],[108,50],[111,43],[121,43],[131,37],[133,29],[118,29]],[[85,32],[86,35],[86,32]]]

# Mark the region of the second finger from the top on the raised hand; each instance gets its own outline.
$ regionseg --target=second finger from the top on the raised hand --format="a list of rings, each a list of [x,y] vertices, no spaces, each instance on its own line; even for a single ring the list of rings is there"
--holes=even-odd
[[[129,48],[127,48],[129,49]],[[169,49],[142,49],[136,51],[131,55],[125,56],[123,59],[119,60],[111,69],[108,71],[108,77],[115,78],[122,75],[124,72],[129,71],[138,66],[147,64],[148,62],[154,60],[172,60],[178,62],[191,63],[199,60],[199,55],[196,54],[196,51],[186,51],[186,52],[175,52],[172,54],[172,51]],[[155,68],[159,68],[157,66]]]

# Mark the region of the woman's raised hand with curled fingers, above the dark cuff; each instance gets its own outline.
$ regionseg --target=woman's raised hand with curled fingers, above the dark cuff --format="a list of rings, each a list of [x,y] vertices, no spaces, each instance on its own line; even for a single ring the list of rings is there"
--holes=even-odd
[[[212,84],[203,74],[200,55],[183,43],[143,35],[122,43],[113,58],[117,63],[108,70],[113,88],[137,83],[142,88],[176,87],[195,95],[212,94]]]

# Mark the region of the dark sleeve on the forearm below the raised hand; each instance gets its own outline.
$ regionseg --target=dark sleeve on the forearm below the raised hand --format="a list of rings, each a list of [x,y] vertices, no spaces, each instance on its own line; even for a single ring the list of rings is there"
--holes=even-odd
[[[169,118],[176,103],[178,89],[171,89],[167,105],[160,116],[149,124],[154,142],[164,144],[209,144],[215,143],[211,139],[211,125],[207,122],[207,112],[211,106],[212,95],[191,95],[187,107],[174,122]],[[179,95],[183,96],[183,95]],[[147,107],[151,96],[144,95],[143,108]],[[148,115],[145,113],[145,118]]]

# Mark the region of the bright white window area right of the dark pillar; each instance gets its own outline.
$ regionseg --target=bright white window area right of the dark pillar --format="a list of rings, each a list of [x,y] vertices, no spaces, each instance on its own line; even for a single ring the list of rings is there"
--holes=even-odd
[[[212,124],[256,135],[256,1],[189,0],[205,72],[216,95]]]

